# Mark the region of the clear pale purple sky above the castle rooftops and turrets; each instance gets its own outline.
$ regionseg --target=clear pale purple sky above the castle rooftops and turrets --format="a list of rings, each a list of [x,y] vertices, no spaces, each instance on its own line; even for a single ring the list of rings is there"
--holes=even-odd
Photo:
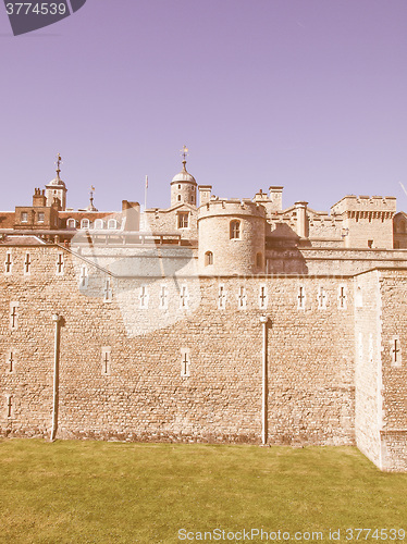
[[[13,37],[0,5],[1,209],[63,158],[67,205],[170,205],[188,170],[221,197],[284,185],[284,206],[346,194],[407,210],[406,0],[87,0]]]

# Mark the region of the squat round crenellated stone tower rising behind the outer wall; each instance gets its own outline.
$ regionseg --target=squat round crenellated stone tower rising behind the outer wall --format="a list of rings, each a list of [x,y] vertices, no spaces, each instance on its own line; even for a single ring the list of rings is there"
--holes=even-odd
[[[251,275],[266,271],[266,209],[251,200],[210,200],[199,208],[199,273]]]

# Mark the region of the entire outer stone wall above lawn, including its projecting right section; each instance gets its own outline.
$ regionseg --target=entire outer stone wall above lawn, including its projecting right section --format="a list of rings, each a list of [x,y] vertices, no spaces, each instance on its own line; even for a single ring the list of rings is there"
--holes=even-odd
[[[0,247],[1,434],[50,436],[58,313],[58,437],[260,443],[266,314],[268,443],[407,469],[406,270],[162,277],[126,251]]]

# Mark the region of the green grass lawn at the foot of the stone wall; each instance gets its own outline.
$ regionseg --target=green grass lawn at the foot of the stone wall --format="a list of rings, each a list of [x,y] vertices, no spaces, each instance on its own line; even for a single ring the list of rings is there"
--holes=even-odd
[[[353,447],[5,440],[0,471],[5,543],[199,542],[178,530],[217,528],[225,540],[212,542],[261,528],[322,531],[323,542],[338,528],[336,542],[357,542],[346,528],[407,532],[407,474],[380,472]]]

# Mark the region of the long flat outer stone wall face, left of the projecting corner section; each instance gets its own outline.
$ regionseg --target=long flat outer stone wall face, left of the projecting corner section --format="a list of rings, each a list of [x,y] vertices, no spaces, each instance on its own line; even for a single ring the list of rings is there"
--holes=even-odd
[[[268,313],[269,442],[353,443],[348,281],[324,279],[320,286],[307,277],[200,277],[199,295],[190,288],[190,298],[200,297],[199,307],[190,299],[183,309],[182,287],[190,279],[178,277],[172,280],[172,290],[168,286],[166,309],[159,307],[162,281],[148,285],[146,308],[140,299],[144,279],[109,279],[112,299],[104,300],[108,275],[101,269],[87,261],[84,265],[81,258],[65,251],[63,275],[57,275],[60,248],[27,250],[30,274],[23,272],[25,250],[12,248],[13,271],[2,277],[2,434],[50,434],[51,317],[58,312],[63,319],[59,437],[258,443],[259,318]],[[82,277],[84,267],[87,276]],[[79,283],[84,285],[78,287]],[[349,306],[342,309],[340,284],[349,297]],[[224,309],[219,308],[220,287]],[[299,287],[304,309],[298,308]],[[320,288],[326,308],[319,309]],[[267,296],[266,301],[260,296]],[[10,329],[13,307],[17,325]],[[159,320],[160,312],[175,309],[176,321],[168,321],[162,329],[134,326],[143,316],[151,313],[149,319]],[[133,322],[128,323],[128,316]],[[338,333],[333,335],[326,321]]]

